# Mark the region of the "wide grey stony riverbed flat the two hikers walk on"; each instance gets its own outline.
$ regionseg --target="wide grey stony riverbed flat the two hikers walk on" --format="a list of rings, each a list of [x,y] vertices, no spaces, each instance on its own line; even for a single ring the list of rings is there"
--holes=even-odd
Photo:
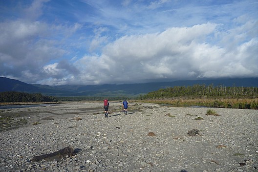
[[[0,171],[258,171],[258,110],[212,108],[218,116],[207,116],[209,108],[129,102],[124,115],[122,102],[109,103],[108,118],[102,102],[1,109],[13,126],[0,127]],[[74,155],[32,161],[65,147]]]

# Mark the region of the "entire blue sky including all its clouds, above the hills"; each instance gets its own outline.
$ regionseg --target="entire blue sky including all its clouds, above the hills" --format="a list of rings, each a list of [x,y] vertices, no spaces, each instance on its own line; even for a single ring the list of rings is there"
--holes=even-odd
[[[0,0],[0,77],[51,86],[258,77],[258,0]]]

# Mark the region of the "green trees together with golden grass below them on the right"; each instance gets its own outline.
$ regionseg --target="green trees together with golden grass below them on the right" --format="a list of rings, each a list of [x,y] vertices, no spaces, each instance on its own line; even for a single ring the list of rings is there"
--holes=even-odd
[[[258,87],[174,86],[149,92],[139,99],[173,106],[258,109]]]

